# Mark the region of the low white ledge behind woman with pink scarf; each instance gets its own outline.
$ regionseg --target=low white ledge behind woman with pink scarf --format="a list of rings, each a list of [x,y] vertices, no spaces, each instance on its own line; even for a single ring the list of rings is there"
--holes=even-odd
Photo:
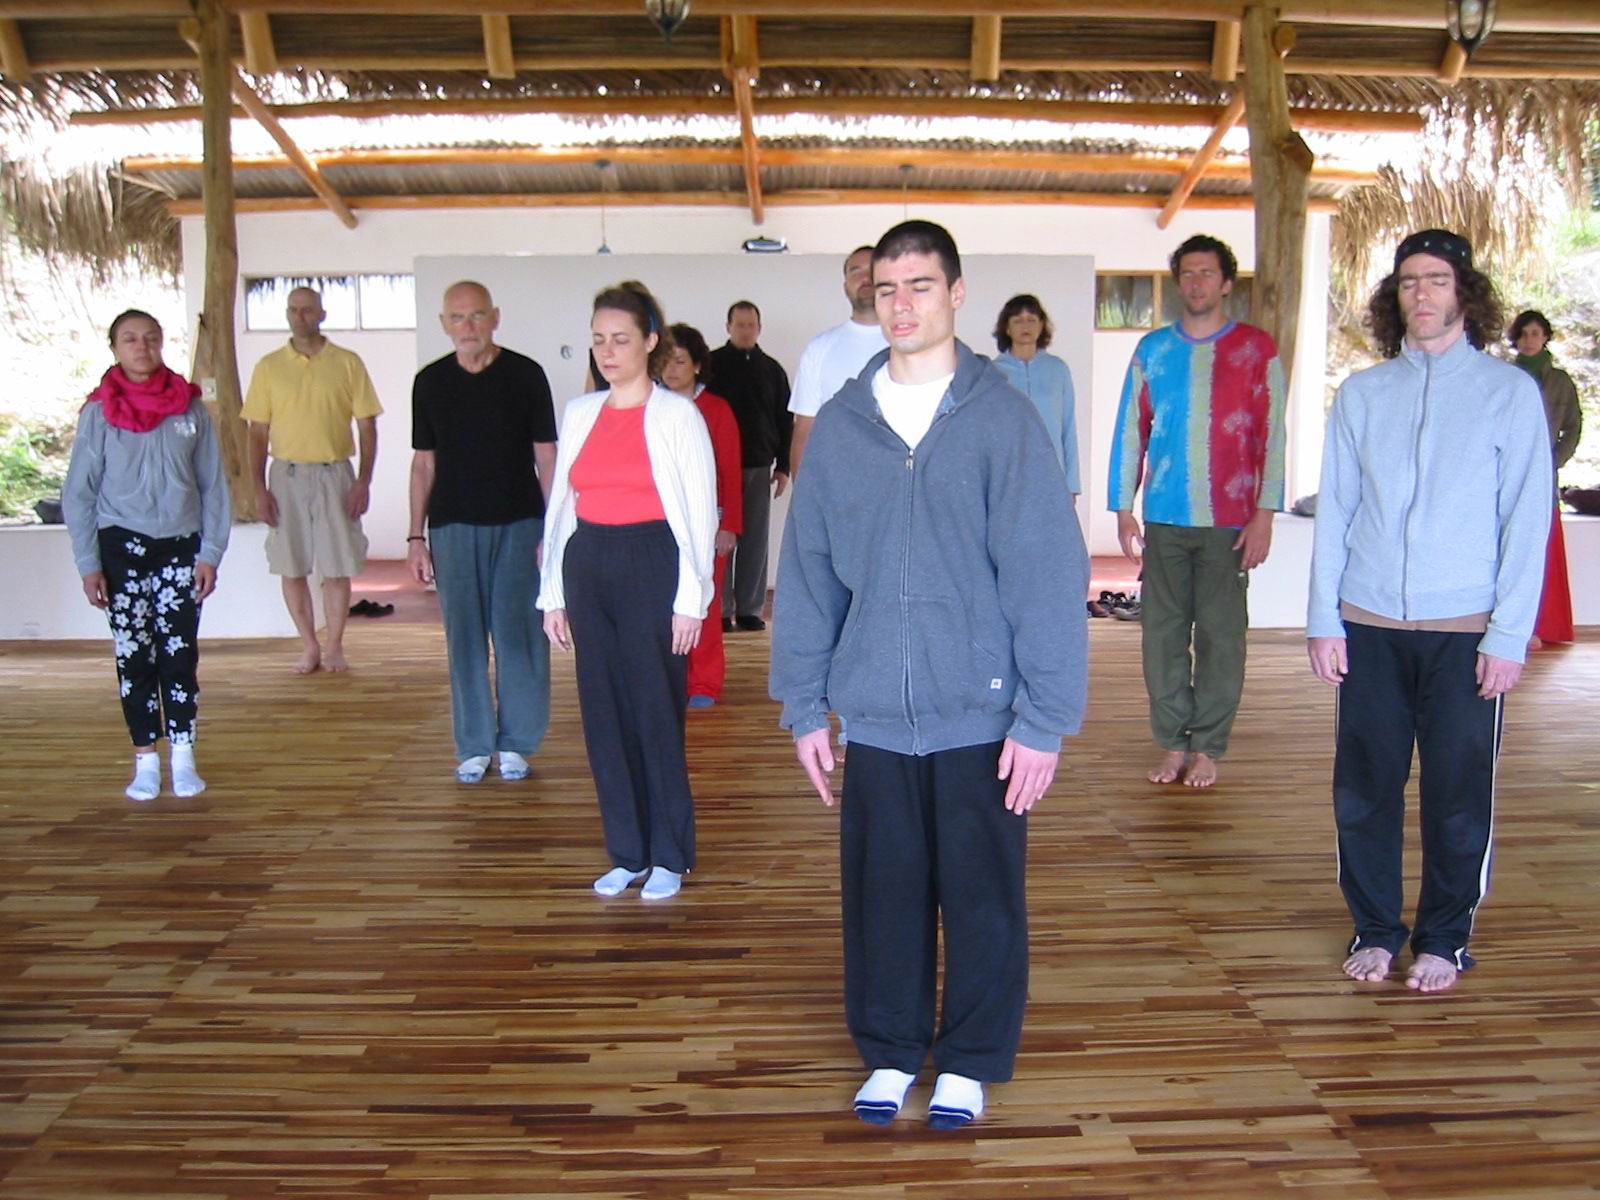
[[[294,637],[277,578],[267,574],[266,525],[235,525],[202,637]],[[317,614],[322,598],[315,589]],[[0,526],[0,640],[109,640],[106,614],[83,598],[64,525]]]

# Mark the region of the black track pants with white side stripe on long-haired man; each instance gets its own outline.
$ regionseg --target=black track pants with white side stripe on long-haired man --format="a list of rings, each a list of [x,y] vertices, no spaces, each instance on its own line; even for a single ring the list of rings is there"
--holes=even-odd
[[[1472,966],[1467,939],[1490,888],[1502,714],[1502,699],[1478,696],[1482,637],[1347,624],[1333,813],[1339,888],[1355,920],[1352,950],[1398,954],[1406,942],[1400,872],[1414,746],[1422,886],[1411,950]]]

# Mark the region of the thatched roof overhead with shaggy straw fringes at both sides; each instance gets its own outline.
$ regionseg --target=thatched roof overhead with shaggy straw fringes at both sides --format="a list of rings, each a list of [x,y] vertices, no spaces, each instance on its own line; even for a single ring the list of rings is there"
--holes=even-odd
[[[670,46],[662,45],[638,11],[642,5],[632,0],[594,0],[582,6],[499,0],[490,8],[512,13],[501,26],[501,61],[509,59],[515,67],[510,78],[486,70],[491,18],[462,13],[456,5],[346,0],[342,6],[330,3],[328,11],[312,11],[320,5],[296,0],[285,6],[291,11],[272,11],[270,3],[253,0],[248,6],[253,24],[240,21],[234,27],[237,54],[258,69],[256,86],[275,104],[331,102],[349,110],[355,102],[389,101],[422,102],[424,112],[459,112],[462,104],[482,101],[533,110],[541,104],[558,107],[558,101],[597,101],[592,110],[566,112],[538,125],[506,115],[461,115],[443,133],[398,122],[376,133],[344,123],[342,134],[304,134],[314,158],[352,149],[435,152],[427,160],[413,155],[408,162],[346,154],[344,162],[325,168],[328,182],[341,192],[374,200],[459,194],[554,198],[598,190],[669,200],[678,194],[738,194],[750,179],[736,160],[715,160],[715,154],[701,155],[701,162],[618,155],[616,170],[598,182],[592,166],[592,158],[618,147],[738,149],[730,82],[736,59],[755,62],[758,70],[750,98],[755,134],[771,150],[758,176],[768,197],[819,189],[848,197],[907,186],[998,198],[1008,192],[1162,197],[1173,186],[1171,170],[1146,170],[1144,160],[1117,163],[1107,155],[1186,158],[1206,136],[1205,125],[1112,128],[1114,109],[1080,123],[1003,117],[974,123],[949,115],[920,120],[915,106],[942,101],[941,112],[947,112],[950,104],[976,101],[1101,101],[1192,110],[1192,106],[1222,104],[1235,88],[1219,66],[1229,22],[1219,21],[1218,11],[1227,6],[1226,0],[1126,0],[1120,6],[1126,14],[1118,16],[1070,14],[1120,11],[1107,5],[1034,5],[1030,11],[1038,16],[1005,16],[998,27],[990,26],[998,37],[994,53],[998,70],[992,78],[979,67],[979,24],[997,19],[974,18],[962,13],[960,5],[931,0],[922,5],[862,0],[856,5],[859,13],[850,13],[848,5],[770,0],[762,11],[771,14],[758,21],[722,16],[736,13],[738,3],[696,0],[694,14]],[[1314,142],[1320,162],[1355,163],[1371,171],[1371,186],[1357,186],[1347,174],[1314,179],[1314,197],[1341,203],[1338,242],[1344,275],[1363,275],[1371,238],[1421,219],[1474,232],[1480,245],[1491,248],[1491,258],[1522,262],[1536,258],[1533,232],[1547,205],[1550,181],[1563,184],[1568,194],[1578,192],[1584,126],[1600,120],[1600,5],[1594,19],[1566,5],[1560,11],[1579,16],[1570,18],[1566,29],[1549,29],[1549,21],[1536,19],[1541,5],[1501,0],[1502,29],[1478,48],[1467,77],[1458,83],[1438,78],[1448,62],[1448,38],[1442,13],[1430,14],[1442,3],[1392,0],[1390,18],[1350,18],[1342,24],[1341,6],[1347,5],[1283,2],[1290,18],[1304,10],[1286,59],[1291,106],[1421,114],[1427,120],[1421,147],[1414,136],[1397,142],[1328,134]],[[186,0],[141,0],[142,11],[150,13],[142,18],[27,14],[37,8],[24,6],[24,16],[14,21],[32,75],[18,80],[8,69],[0,82],[3,202],[13,227],[27,245],[94,262],[131,253],[171,264],[176,238],[168,202],[181,205],[198,194],[198,125],[138,133],[123,128],[118,136],[102,138],[96,149],[74,122],[83,120],[80,114],[107,110],[162,117],[200,102],[194,54],[174,19],[189,11]],[[67,8],[86,11],[82,3]],[[1371,5],[1358,8],[1371,11]],[[0,0],[0,24],[3,10]],[[262,11],[266,18],[256,16]],[[1186,16],[1190,11],[1195,16]],[[10,62],[16,66],[14,51]],[[808,98],[851,110],[774,115],[792,112]],[[661,115],[664,101],[677,109]],[[646,104],[656,106],[656,115],[627,118]],[[912,115],[901,117],[898,125],[870,118],[875,109],[888,107]],[[291,131],[299,136],[309,126],[310,122],[294,122]],[[253,126],[235,123],[235,155],[246,154],[242,149],[246,128]],[[1242,136],[1238,130],[1224,142],[1218,168],[1202,178],[1197,197],[1248,194],[1248,182],[1229,170],[1230,157],[1238,162]],[[66,149],[53,160],[38,154],[45,144]],[[448,154],[486,146],[576,146],[594,154],[589,162],[482,155],[451,162]],[[938,165],[925,157],[907,171],[882,154],[869,154],[894,146],[942,147],[960,157]],[[997,155],[995,147],[1010,147],[1013,154]],[[856,158],[819,154],[851,149],[861,154]],[[1018,157],[1018,150],[1054,158],[1045,171],[1026,155]],[[134,155],[144,166],[125,170]],[[1070,155],[1098,162],[1075,171],[1066,158]],[[66,158],[66,166],[54,165],[59,158]],[[235,181],[245,200],[290,202],[309,195],[304,179],[283,165],[242,163]]]

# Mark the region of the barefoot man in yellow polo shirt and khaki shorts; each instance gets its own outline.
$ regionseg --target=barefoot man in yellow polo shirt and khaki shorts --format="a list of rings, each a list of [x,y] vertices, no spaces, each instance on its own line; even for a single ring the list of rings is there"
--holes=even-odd
[[[256,363],[245,395],[250,421],[250,469],[256,514],[267,533],[267,570],[283,578],[283,602],[306,651],[294,664],[302,675],[344,670],[344,622],[350,613],[350,576],[366,565],[366,512],[378,458],[378,392],[360,357],[322,336],[322,296],[290,293],[288,346]],[[350,469],[355,421],[360,470]],[[272,470],[267,472],[267,454]],[[306,578],[322,576],[328,619],[326,645],[317,642],[317,618]]]

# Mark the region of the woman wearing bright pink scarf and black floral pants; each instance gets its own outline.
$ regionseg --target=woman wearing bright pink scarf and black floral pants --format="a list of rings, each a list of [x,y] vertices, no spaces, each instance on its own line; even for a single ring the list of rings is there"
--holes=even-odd
[[[200,602],[216,587],[232,504],[200,389],[162,363],[162,326],[130,309],[110,323],[115,363],[78,414],[61,493],[83,594],[110,619],[122,714],[133,736],[130,800],[198,795]]]

